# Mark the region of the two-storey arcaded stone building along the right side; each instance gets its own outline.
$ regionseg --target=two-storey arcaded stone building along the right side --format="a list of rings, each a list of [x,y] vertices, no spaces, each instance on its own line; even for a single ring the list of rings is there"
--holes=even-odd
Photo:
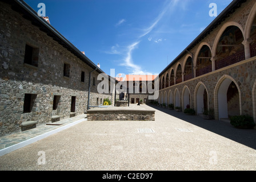
[[[234,0],[159,74],[159,103],[256,120],[256,2]]]

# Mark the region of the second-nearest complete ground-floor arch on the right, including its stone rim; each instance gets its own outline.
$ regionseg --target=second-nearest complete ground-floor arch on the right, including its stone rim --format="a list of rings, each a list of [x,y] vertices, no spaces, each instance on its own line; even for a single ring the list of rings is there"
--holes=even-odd
[[[207,94],[207,97],[205,96]],[[198,82],[194,92],[194,107],[197,114],[201,114],[203,110],[209,109],[209,94],[203,82]]]

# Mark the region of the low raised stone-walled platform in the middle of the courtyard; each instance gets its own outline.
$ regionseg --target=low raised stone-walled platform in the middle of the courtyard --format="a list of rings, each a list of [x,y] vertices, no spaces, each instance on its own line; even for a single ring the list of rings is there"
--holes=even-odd
[[[87,110],[87,121],[155,121],[155,110],[135,104],[129,107],[97,107]]]

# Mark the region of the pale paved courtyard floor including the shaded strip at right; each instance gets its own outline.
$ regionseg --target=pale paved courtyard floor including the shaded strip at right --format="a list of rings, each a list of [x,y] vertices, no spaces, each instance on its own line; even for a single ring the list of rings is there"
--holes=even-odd
[[[82,121],[0,156],[0,170],[255,171],[256,130],[138,107],[155,121]]]

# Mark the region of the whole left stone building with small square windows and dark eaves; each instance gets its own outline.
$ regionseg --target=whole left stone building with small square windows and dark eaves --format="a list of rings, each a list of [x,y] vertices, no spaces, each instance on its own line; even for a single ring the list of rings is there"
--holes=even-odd
[[[0,42],[0,135],[113,101],[97,92],[101,68],[25,2],[0,2]]]

